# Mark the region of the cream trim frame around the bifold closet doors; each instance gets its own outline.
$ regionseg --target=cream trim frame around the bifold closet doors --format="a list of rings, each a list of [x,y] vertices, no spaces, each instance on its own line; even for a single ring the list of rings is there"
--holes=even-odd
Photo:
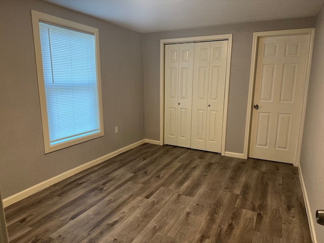
[[[226,122],[227,122],[227,105],[228,105],[228,89],[229,89],[229,74],[232,52],[232,34],[221,35],[206,35],[196,37],[172,38],[160,40],[160,145],[164,144],[164,69],[165,69],[165,45],[188,43],[188,42],[205,42],[205,41],[222,41],[228,40],[227,64],[226,64],[226,79],[225,79],[225,97],[224,97],[224,112],[223,112],[223,129],[222,129],[222,149],[221,154],[225,155],[226,141]]]

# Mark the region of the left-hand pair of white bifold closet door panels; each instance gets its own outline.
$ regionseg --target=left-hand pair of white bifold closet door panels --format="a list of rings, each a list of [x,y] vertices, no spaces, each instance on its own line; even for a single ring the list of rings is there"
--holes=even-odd
[[[193,43],[165,46],[165,144],[190,148]]]

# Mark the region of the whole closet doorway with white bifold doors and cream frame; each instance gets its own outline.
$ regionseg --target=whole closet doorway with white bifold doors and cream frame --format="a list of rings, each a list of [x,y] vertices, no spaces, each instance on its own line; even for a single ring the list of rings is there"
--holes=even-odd
[[[161,40],[161,145],[225,154],[231,41],[231,34]]]

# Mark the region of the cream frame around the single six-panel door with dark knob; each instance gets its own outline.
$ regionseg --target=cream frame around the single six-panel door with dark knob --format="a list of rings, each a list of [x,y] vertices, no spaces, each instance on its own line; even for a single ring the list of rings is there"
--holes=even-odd
[[[299,166],[300,152],[302,145],[302,137],[304,130],[304,120],[305,120],[305,110],[306,110],[306,101],[307,101],[307,92],[308,92],[308,83],[310,75],[310,64],[313,51],[313,42],[314,42],[314,28],[305,28],[305,29],[289,29],[289,30],[276,30],[276,31],[265,31],[265,32],[255,32],[253,33],[253,45],[252,45],[252,60],[251,60],[251,71],[250,71],[250,84],[249,84],[249,96],[248,96],[248,109],[247,109],[247,120],[246,120],[246,129],[245,129],[245,142],[244,142],[244,157],[249,157],[249,148],[250,148],[250,132],[251,132],[251,123],[252,123],[252,101],[254,96],[254,84],[255,84],[255,74],[257,68],[257,56],[259,48],[259,38],[267,36],[283,36],[283,35],[309,35],[309,53],[306,60],[306,68],[304,74],[304,85],[303,93],[300,107],[300,119],[299,119],[299,131],[297,134],[297,146],[294,155],[294,166]]]

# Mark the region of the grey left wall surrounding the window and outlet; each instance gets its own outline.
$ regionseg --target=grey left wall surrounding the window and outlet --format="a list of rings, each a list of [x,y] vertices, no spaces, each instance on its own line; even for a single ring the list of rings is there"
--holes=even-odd
[[[44,154],[31,9],[99,29],[104,137]],[[144,139],[142,34],[38,0],[1,0],[0,35],[4,198]]]

